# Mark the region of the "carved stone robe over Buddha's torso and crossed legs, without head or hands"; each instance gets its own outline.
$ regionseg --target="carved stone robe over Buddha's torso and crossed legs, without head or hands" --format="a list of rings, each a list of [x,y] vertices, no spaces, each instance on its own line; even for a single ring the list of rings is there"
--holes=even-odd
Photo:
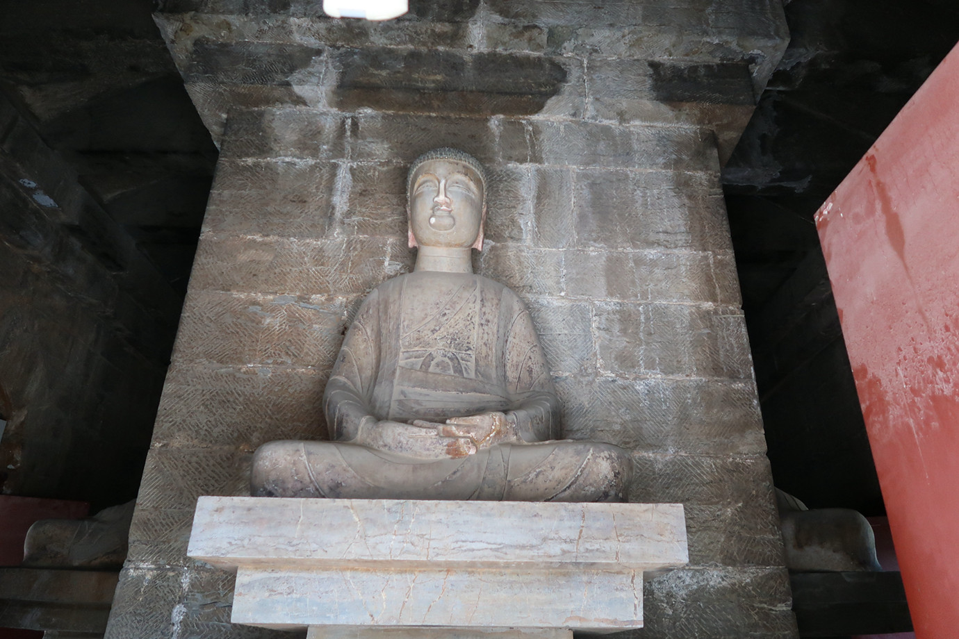
[[[550,441],[558,400],[529,313],[507,287],[418,271],[378,286],[343,342],[323,399],[335,442],[257,451],[255,495],[622,501],[630,462],[614,445]],[[423,459],[358,442],[379,422],[501,411],[520,442]],[[386,447],[386,446],[385,446]]]

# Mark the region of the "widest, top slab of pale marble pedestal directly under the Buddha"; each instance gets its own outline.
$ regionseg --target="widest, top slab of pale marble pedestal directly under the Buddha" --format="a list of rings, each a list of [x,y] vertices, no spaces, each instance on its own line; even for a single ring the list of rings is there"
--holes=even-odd
[[[682,564],[685,530],[679,504],[204,496],[189,555],[222,567],[644,570]]]

